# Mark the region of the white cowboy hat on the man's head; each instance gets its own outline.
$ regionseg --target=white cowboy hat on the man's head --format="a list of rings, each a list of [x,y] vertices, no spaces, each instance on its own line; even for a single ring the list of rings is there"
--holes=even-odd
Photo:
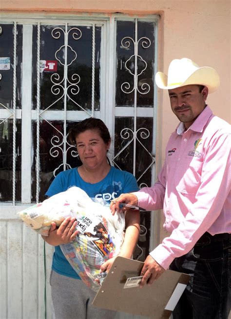
[[[189,84],[205,85],[209,93],[212,93],[218,89],[220,78],[213,68],[209,66],[200,68],[192,60],[183,58],[172,60],[169,64],[168,76],[157,72],[155,83],[159,88],[167,90]]]

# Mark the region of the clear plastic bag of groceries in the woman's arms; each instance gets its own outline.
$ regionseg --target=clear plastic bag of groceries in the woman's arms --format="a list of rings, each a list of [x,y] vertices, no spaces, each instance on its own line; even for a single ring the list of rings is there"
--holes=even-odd
[[[95,200],[73,186],[22,210],[19,216],[43,236],[49,235],[53,221],[58,227],[65,218],[75,217],[78,235],[74,241],[61,244],[60,248],[83,282],[97,291],[106,276],[106,273],[99,272],[100,266],[120,251],[125,218],[123,214],[112,215],[109,206]]]

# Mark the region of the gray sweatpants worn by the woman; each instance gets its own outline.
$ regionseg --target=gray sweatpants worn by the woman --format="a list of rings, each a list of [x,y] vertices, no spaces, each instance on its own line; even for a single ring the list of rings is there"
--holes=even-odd
[[[50,285],[55,319],[114,319],[116,316],[116,311],[92,305],[96,293],[82,280],[62,276],[52,270]]]

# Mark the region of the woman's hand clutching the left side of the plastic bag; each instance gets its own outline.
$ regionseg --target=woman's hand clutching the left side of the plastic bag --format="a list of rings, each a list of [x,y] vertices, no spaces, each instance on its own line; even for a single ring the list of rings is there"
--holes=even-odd
[[[61,225],[57,228],[56,223],[51,223],[49,236],[42,236],[42,238],[50,245],[58,246],[60,244],[67,244],[73,241],[78,231],[76,230],[77,220],[68,217],[63,220]]]

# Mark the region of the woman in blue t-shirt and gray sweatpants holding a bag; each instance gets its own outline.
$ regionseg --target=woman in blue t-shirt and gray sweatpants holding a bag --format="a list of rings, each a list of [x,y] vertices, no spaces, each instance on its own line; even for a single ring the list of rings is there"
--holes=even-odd
[[[111,137],[102,120],[89,118],[72,127],[69,131],[70,141],[77,146],[82,165],[61,172],[51,183],[46,195],[51,197],[77,186],[89,197],[100,198],[110,203],[122,193],[138,190],[135,177],[125,171],[112,167],[107,159]],[[139,236],[139,212],[125,213],[126,232],[119,256],[132,258]],[[50,276],[51,295],[56,319],[101,319],[114,318],[115,311],[92,306],[94,293],[78,277],[61,252],[60,244],[71,242],[77,236],[77,221],[65,219],[57,228],[52,223],[49,236],[43,239],[55,246],[52,271]],[[108,271],[114,258],[107,260],[102,271]]]

